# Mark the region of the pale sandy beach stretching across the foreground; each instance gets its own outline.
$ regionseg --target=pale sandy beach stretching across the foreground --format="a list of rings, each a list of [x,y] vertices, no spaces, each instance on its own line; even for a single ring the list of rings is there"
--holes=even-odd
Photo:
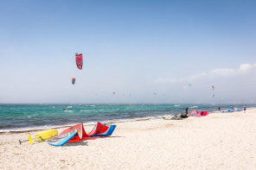
[[[110,137],[63,147],[19,144],[38,131],[2,133],[0,169],[256,169],[255,119],[246,110],[114,123]]]

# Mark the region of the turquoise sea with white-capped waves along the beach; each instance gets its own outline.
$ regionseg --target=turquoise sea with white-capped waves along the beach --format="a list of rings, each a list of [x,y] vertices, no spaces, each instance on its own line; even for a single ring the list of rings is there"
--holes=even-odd
[[[0,104],[0,133],[153,119],[184,113],[188,106],[189,112],[219,112],[219,106],[256,108],[256,104]]]

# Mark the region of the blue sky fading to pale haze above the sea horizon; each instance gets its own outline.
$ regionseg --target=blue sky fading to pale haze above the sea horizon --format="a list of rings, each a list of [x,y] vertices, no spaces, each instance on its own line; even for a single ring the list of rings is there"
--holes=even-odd
[[[0,21],[2,104],[256,103],[254,0],[0,0]]]

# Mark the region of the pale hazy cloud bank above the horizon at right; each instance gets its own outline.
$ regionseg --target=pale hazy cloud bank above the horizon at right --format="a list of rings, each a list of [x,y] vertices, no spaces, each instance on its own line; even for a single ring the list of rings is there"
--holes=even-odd
[[[175,102],[252,103],[256,101],[255,74],[256,64],[241,64],[237,68],[214,69],[187,78],[160,78],[155,83],[159,85],[158,91],[164,91],[170,99],[175,98]]]

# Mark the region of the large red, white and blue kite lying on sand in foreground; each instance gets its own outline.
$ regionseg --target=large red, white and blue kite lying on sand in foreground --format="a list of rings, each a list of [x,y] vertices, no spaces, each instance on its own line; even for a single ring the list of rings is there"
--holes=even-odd
[[[81,142],[84,139],[93,139],[96,136],[112,135],[116,125],[106,125],[97,123],[89,134],[86,134],[83,123],[78,123],[73,127],[65,129],[60,135],[48,140],[49,145],[63,146],[67,142]]]

